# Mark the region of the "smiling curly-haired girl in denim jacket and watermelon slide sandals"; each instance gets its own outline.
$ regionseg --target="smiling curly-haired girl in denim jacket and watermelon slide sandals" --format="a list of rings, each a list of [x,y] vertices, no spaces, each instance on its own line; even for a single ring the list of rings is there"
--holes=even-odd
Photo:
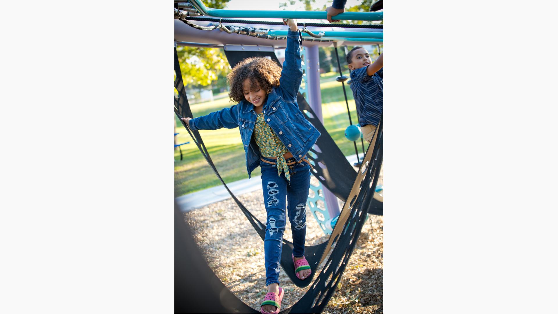
[[[278,313],[281,307],[283,289],[279,287],[278,277],[286,207],[296,275],[305,279],[311,273],[304,257],[306,200],[310,188],[306,153],[320,132],[304,118],[296,102],[302,80],[300,36],[295,20],[285,19],[283,23],[289,26],[283,69],[267,58],[245,59],[227,76],[229,97],[238,104],[206,116],[183,118],[191,130],[239,127],[248,177],[258,165],[261,167],[267,211],[263,246],[268,289],[261,305],[262,313]]]

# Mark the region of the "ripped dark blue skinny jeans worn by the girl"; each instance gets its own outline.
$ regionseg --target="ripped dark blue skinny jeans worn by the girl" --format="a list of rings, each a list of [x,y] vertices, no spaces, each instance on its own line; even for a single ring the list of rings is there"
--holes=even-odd
[[[276,160],[264,158],[268,161]],[[287,163],[295,161],[287,159]],[[266,237],[263,241],[266,261],[266,286],[279,283],[281,250],[286,215],[291,222],[293,253],[295,257],[304,256],[306,242],[306,201],[310,188],[310,165],[306,161],[290,165],[291,182],[285,173],[277,175],[277,166],[259,161],[262,172],[263,202],[266,206]],[[287,206],[288,205],[288,206]]]

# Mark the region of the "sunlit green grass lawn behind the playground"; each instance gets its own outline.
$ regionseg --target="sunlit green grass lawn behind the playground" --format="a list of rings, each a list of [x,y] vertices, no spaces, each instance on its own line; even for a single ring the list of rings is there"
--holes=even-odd
[[[345,139],[345,128],[349,126],[349,116],[343,96],[343,87],[341,87],[341,83],[335,81],[338,74],[333,72],[326,74],[328,75],[321,77],[322,83],[320,84],[325,129],[328,130],[345,156],[353,155],[355,153],[353,142]],[[347,89],[351,118],[353,124],[356,124],[358,120],[353,93],[347,84],[345,84],[345,89]],[[230,107],[233,104],[226,97],[211,102],[192,104],[190,108],[194,117],[199,117]],[[180,160],[180,152],[175,151],[175,197],[220,185],[221,182],[217,175],[205,161],[182,123],[176,116],[175,119],[176,132],[179,132],[179,135],[176,136],[177,142],[190,141],[190,144],[182,145],[183,160]],[[244,149],[238,128],[214,131],[201,130],[200,135],[225,183],[248,178]],[[360,141],[357,144],[359,154],[362,154]],[[252,172],[252,176],[257,175],[261,175],[259,167]]]

